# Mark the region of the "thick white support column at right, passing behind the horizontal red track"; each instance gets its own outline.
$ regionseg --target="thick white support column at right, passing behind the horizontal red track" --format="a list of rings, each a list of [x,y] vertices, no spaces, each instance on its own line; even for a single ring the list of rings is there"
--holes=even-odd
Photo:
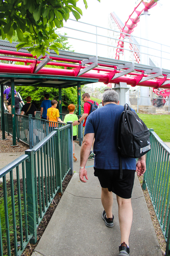
[[[148,39],[148,24],[149,24],[149,13],[144,11],[140,15],[140,37]],[[149,66],[149,55],[148,55],[148,41],[141,39],[141,54],[140,54],[140,63]],[[151,105],[149,98],[149,87],[140,86],[140,99],[139,105]]]

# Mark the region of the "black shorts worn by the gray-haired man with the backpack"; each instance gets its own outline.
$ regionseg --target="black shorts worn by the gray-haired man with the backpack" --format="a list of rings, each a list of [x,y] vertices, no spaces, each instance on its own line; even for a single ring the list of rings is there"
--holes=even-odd
[[[106,170],[95,168],[94,175],[98,177],[102,188],[108,188],[117,196],[129,199],[132,197],[132,189],[135,179],[135,170],[123,170],[120,179],[120,170]]]

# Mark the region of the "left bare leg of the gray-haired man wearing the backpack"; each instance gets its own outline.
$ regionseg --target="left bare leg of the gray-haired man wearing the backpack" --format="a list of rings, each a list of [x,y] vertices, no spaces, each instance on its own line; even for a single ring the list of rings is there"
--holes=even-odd
[[[112,191],[109,192],[108,188],[102,187],[102,193],[101,193],[101,201],[103,208],[106,212],[106,218],[112,218],[112,206],[113,206],[113,195]]]

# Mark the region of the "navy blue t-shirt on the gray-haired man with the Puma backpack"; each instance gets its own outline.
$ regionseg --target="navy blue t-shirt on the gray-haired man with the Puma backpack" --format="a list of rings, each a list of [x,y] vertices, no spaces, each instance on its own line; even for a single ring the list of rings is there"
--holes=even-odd
[[[87,117],[84,135],[95,133],[94,167],[96,168],[119,169],[117,134],[120,115],[123,111],[124,106],[110,103]],[[122,169],[136,170],[136,159],[122,157]]]

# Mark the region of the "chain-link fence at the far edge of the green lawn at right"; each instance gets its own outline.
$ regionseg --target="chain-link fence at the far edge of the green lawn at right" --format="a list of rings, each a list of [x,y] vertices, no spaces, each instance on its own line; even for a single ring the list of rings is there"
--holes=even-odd
[[[170,96],[142,97],[139,93],[129,94],[129,104],[137,113],[169,114]]]

